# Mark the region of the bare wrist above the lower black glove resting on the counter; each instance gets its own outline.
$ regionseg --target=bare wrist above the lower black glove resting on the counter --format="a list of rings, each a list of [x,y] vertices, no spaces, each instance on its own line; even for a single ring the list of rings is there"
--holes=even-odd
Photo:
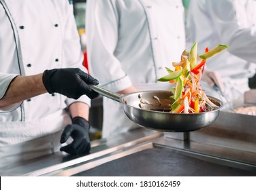
[[[69,112],[71,117],[83,117],[87,121],[89,120],[89,105],[84,102],[74,102],[69,105]]]

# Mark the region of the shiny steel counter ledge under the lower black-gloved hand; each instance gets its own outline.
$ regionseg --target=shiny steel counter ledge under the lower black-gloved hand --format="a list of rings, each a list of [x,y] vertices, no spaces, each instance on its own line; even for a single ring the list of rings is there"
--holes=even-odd
[[[50,155],[37,157],[27,161],[16,163],[0,169],[0,176],[37,176],[59,168],[66,168],[93,161],[98,157],[109,155],[133,144],[138,144],[145,139],[152,139],[161,136],[161,132],[139,128],[138,130],[113,136],[108,139],[93,140],[91,142],[91,153],[89,155],[72,156],[63,152],[56,152]]]

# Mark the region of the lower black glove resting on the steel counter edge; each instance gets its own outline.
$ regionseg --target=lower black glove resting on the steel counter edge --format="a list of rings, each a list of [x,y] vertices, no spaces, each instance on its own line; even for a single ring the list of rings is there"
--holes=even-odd
[[[89,153],[91,150],[89,129],[90,124],[86,119],[74,117],[72,124],[67,125],[61,134],[61,144],[66,142],[69,136],[73,138],[73,142],[65,147],[61,147],[60,151],[65,151],[71,155]]]

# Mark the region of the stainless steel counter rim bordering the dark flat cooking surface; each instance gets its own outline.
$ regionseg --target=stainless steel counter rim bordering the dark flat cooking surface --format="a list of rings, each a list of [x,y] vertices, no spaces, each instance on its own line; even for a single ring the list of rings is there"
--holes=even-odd
[[[179,155],[186,155],[218,166],[252,172],[251,174],[256,176],[255,152],[189,140],[191,133],[174,133],[175,135],[185,138],[175,138],[163,132],[138,128],[112,138],[94,140],[91,143],[92,149],[89,155],[77,157],[57,152],[17,163],[16,166],[8,166],[0,171],[0,174],[1,176],[74,176],[140,151],[157,148],[174,151]],[[144,173],[145,176],[147,174]]]

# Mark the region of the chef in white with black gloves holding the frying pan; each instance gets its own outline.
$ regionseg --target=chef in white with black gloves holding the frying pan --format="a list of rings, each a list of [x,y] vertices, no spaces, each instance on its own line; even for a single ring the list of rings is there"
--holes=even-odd
[[[0,26],[0,168],[59,151],[69,136],[61,151],[88,153],[89,97],[98,94],[87,83],[98,81],[82,71],[68,1],[1,0]]]

